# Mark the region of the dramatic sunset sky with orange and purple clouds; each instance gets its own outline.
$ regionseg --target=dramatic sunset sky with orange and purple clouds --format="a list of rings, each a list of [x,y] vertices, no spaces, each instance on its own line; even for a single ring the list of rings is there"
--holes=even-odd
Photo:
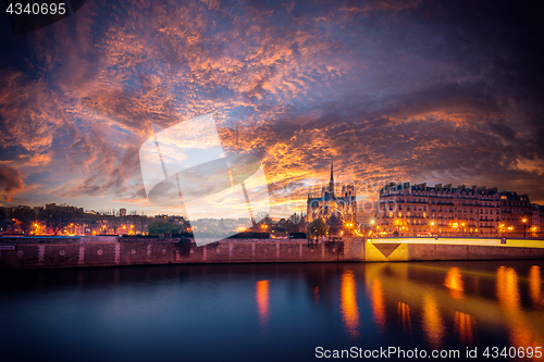
[[[0,205],[176,213],[139,148],[210,114],[258,157],[273,217],[309,188],[478,185],[544,204],[542,7],[502,1],[94,1],[0,22]],[[370,187],[368,187],[370,186]]]

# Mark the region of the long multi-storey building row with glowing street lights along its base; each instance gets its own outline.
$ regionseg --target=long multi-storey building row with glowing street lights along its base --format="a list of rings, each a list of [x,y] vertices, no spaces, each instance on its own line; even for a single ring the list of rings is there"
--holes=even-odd
[[[380,190],[379,236],[522,236],[533,225],[527,195],[497,188],[390,184]],[[528,234],[529,236],[529,234]]]

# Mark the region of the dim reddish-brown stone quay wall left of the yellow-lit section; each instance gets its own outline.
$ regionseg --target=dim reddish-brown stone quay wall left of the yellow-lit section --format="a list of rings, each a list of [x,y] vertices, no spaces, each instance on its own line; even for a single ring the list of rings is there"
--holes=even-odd
[[[81,267],[182,263],[336,262],[344,260],[344,244],[306,239],[273,241],[222,240],[203,247],[176,240],[72,244],[0,244],[0,269]],[[4,240],[2,240],[4,241]]]

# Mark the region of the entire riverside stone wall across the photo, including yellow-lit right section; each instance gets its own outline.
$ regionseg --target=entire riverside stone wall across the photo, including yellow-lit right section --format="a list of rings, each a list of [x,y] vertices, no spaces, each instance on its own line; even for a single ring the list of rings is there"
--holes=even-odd
[[[54,242],[0,239],[0,269],[86,267],[144,264],[270,263],[270,262],[390,262],[431,260],[543,259],[544,240],[509,245],[420,244],[398,238],[381,242],[363,238],[343,241],[306,239],[227,239],[203,247],[178,239],[81,237]],[[482,241],[483,242],[483,241]],[[489,241],[486,241],[489,244]]]

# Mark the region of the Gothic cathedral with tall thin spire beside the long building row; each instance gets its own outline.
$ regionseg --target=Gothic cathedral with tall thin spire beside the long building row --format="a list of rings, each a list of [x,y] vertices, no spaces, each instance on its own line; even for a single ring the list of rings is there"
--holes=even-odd
[[[321,189],[321,195],[308,194],[307,222],[311,223],[322,217],[331,227],[330,234],[334,235],[345,223],[356,224],[357,201],[354,185],[342,186],[339,194],[335,190],[333,162],[331,162],[331,179]]]

